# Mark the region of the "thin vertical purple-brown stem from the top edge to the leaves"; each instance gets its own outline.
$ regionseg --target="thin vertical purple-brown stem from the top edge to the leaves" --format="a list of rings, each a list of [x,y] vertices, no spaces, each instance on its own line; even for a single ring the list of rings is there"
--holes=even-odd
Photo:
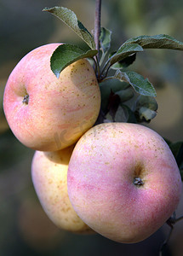
[[[96,55],[96,63],[97,63],[97,77],[100,78],[100,23],[101,23],[101,0],[95,1],[95,15],[94,15],[94,43],[96,49],[98,50],[98,54]]]

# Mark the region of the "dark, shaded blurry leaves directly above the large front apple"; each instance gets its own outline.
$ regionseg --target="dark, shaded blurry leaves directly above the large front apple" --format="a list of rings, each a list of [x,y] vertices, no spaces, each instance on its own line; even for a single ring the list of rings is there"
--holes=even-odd
[[[101,84],[103,122],[149,123],[157,115],[157,101],[143,96],[126,82]]]

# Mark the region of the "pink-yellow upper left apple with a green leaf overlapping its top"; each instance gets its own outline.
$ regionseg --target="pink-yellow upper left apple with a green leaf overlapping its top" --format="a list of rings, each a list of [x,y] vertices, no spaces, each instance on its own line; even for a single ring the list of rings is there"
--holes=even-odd
[[[51,71],[50,57],[59,45],[46,44],[24,56],[4,91],[10,129],[35,150],[56,151],[76,143],[100,111],[100,88],[88,60],[72,63],[59,79]]]

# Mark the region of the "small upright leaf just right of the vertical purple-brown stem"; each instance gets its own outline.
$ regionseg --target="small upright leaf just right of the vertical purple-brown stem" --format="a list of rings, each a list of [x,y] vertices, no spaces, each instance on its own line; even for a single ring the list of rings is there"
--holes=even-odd
[[[104,54],[110,49],[112,40],[112,32],[105,27],[101,27],[100,31],[100,47]]]

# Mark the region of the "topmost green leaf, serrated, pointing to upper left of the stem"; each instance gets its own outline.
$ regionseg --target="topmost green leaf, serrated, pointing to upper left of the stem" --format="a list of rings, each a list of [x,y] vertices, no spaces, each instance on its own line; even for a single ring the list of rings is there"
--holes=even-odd
[[[75,15],[71,9],[55,6],[53,8],[45,8],[43,11],[48,11],[62,20],[67,26],[71,27],[71,29],[76,32],[91,49],[95,49],[93,36],[86,27],[83,26],[82,22],[77,20],[77,15]]]

